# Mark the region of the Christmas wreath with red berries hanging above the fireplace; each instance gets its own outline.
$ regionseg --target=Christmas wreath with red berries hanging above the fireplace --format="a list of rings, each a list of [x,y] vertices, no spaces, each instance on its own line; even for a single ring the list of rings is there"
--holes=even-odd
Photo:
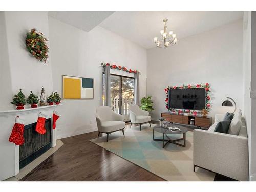
[[[32,29],[27,33],[26,46],[28,51],[39,61],[48,59],[49,48],[46,44],[48,41],[41,32],[36,32],[36,29]]]

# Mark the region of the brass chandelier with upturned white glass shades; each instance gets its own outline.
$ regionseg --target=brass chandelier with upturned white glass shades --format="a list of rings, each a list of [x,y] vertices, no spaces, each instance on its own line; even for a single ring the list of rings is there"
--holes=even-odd
[[[167,33],[166,29],[167,29],[167,25],[166,22],[168,21],[167,18],[163,19],[164,22],[164,30],[161,30],[161,40],[158,41],[157,37],[154,37],[154,42],[157,45],[157,47],[169,47],[169,46],[173,46],[175,44],[177,44],[177,37],[176,37],[176,33],[174,33],[173,31],[169,31],[169,33]]]

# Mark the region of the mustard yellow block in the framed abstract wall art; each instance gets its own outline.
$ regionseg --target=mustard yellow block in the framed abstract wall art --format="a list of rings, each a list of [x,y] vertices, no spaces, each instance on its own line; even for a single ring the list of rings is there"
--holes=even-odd
[[[64,99],[80,99],[81,98],[81,80],[74,78],[64,78]]]

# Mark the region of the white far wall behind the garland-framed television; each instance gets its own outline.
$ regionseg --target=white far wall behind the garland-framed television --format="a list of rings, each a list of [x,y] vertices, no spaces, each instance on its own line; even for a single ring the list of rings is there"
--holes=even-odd
[[[226,97],[242,108],[242,20],[179,39],[177,45],[147,50],[147,95],[153,96],[157,120],[165,108],[164,88],[209,83],[212,110],[224,113]],[[229,109],[232,111],[232,109]]]

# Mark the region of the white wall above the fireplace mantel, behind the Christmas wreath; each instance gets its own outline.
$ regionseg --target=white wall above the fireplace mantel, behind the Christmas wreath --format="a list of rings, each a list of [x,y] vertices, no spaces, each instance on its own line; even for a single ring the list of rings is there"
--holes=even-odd
[[[51,57],[47,63],[37,61],[26,49],[26,34],[32,28],[44,33],[49,39],[48,16],[46,11],[7,11],[5,12],[6,34],[9,54],[9,70],[11,77],[11,87],[7,82],[1,90],[11,90],[12,96],[23,89],[26,96],[30,90],[39,95],[41,87],[44,86],[46,94],[53,90]],[[50,44],[50,42],[48,42]],[[9,95],[8,95],[9,97]],[[12,97],[5,100],[9,108]],[[2,105],[0,105],[0,108]],[[6,109],[3,109],[6,110]]]

